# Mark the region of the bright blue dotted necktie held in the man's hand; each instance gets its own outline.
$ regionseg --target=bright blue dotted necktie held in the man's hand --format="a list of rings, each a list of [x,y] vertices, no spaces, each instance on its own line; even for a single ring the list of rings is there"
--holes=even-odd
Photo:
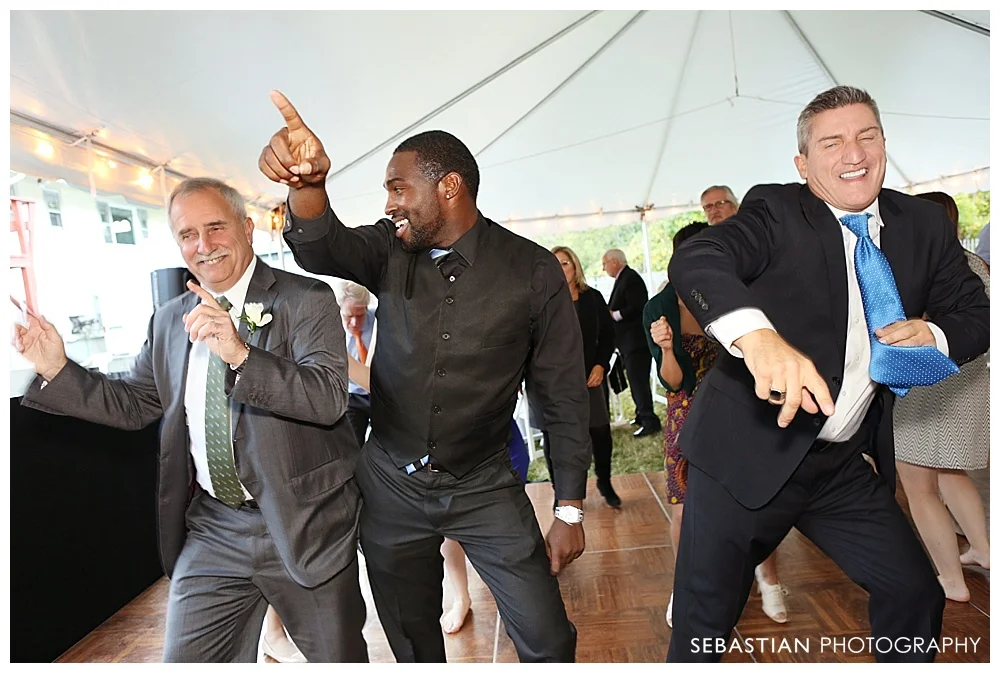
[[[868,235],[871,213],[844,215],[841,224],[858,237],[854,248],[854,271],[861,287],[861,302],[872,345],[868,372],[872,381],[884,383],[903,397],[913,386],[930,386],[958,373],[958,365],[933,346],[887,346],[875,330],[906,320],[896,279],[885,255]]]

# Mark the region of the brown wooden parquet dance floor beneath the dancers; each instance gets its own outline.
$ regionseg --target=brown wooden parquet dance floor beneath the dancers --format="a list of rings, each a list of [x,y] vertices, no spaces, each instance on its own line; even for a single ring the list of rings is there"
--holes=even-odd
[[[620,511],[604,504],[591,479],[584,505],[587,551],[560,577],[567,611],[579,633],[577,660],[662,662],[670,642],[664,612],[673,582],[664,476],[625,475],[615,477],[614,485],[623,501]],[[529,484],[527,490],[542,530],[547,530],[552,523],[552,488],[547,483]],[[874,660],[867,653],[852,654],[860,649],[860,639],[869,635],[867,593],[794,530],[778,548],[778,569],[789,591],[788,622],[768,619],[760,597],[752,594],[736,637],[744,643],[752,639],[753,651],[730,651],[723,661]],[[989,573],[967,568],[965,575],[972,600],[947,601],[942,633],[963,642],[964,651],[952,647],[938,655],[940,662],[989,661]],[[472,612],[459,633],[445,636],[449,661],[516,662],[514,645],[489,591],[471,570],[469,580]],[[364,633],[369,656],[373,662],[392,662],[363,571],[362,588],[368,601]],[[161,579],[59,661],[160,661],[167,590],[167,580]],[[841,640],[824,642],[824,637]]]

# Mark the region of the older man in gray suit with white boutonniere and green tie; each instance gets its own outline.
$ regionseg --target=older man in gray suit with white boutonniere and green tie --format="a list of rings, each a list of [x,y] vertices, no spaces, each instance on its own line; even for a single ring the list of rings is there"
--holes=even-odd
[[[185,181],[168,215],[200,287],[156,311],[121,379],[67,360],[29,315],[14,334],[38,373],[23,403],[124,429],[160,421],[165,661],[255,661],[268,603],[309,661],[367,661],[335,295],[254,256],[253,221],[223,182]]]

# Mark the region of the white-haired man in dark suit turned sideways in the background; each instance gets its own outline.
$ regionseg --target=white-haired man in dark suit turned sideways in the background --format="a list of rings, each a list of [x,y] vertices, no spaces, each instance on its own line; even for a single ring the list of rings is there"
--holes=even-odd
[[[615,279],[608,308],[615,321],[615,346],[625,362],[628,388],[635,402],[637,426],[633,437],[645,437],[660,431],[660,419],[653,412],[653,392],[650,390],[650,367],[653,358],[646,347],[646,330],[642,326],[642,309],[649,292],[642,276],[628,265],[625,253],[613,248],[601,259],[604,272]]]

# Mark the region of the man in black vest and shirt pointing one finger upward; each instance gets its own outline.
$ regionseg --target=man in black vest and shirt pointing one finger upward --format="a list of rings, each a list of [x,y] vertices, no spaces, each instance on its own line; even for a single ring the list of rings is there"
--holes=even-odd
[[[521,661],[574,660],[576,630],[555,578],[583,553],[591,448],[583,340],[547,250],[476,208],[479,169],[443,131],[404,141],[386,168],[382,219],[348,229],[330,209],[330,159],[295,108],[260,169],[289,185],[285,239],[312,273],[379,300],[372,432],[358,462],[361,546],[397,661],[445,661],[444,537],[465,549]],[[507,452],[522,380],[540,403],[559,471],[543,539]]]

